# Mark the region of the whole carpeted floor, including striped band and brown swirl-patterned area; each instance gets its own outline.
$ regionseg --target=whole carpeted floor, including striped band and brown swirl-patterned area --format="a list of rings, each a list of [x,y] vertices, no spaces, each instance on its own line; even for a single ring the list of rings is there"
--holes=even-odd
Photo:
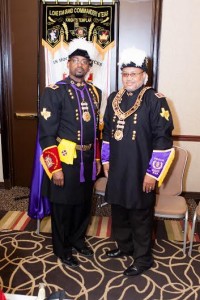
[[[183,255],[181,222],[158,221],[152,239],[153,267],[141,276],[127,278],[123,271],[132,257],[105,256],[105,251],[115,247],[110,238],[111,217],[93,216],[87,242],[94,257],[74,251],[80,266],[70,269],[53,255],[50,217],[42,220],[40,234],[36,233],[37,221],[26,212],[28,194],[24,188],[0,190],[0,288],[5,293],[36,296],[39,283],[44,282],[47,296],[65,290],[70,300],[200,299],[200,237],[195,236],[192,256]],[[190,235],[196,203],[189,199],[188,205]],[[189,241],[187,252],[188,246]]]

